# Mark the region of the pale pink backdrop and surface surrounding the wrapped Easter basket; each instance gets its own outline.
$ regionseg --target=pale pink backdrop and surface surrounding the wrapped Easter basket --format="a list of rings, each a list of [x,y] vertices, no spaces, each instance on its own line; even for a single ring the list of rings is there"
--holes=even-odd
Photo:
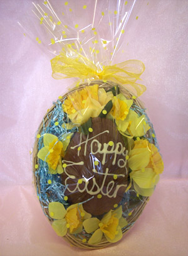
[[[46,109],[71,81],[55,81],[49,57],[19,30],[17,21],[31,1],[0,1],[0,255],[188,255],[188,2],[138,2],[132,14],[137,23],[127,28],[124,53],[116,62],[137,58],[145,64],[142,100],[165,170],[125,238],[87,252],[70,247],[52,230],[36,198],[29,156]]]

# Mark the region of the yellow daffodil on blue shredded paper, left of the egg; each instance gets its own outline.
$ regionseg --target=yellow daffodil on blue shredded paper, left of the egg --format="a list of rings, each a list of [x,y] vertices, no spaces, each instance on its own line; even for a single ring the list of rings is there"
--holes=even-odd
[[[70,142],[73,133],[70,133],[61,142],[58,137],[50,133],[43,135],[44,147],[38,152],[38,158],[48,163],[49,172],[51,174],[62,174],[63,168],[61,163],[61,156],[64,156],[66,147]]]

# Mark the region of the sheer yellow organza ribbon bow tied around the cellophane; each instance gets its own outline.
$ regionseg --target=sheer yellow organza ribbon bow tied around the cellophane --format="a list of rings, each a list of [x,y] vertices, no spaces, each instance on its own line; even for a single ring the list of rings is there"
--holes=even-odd
[[[51,69],[55,79],[78,77],[84,80],[113,81],[132,86],[137,91],[137,96],[146,90],[144,85],[136,83],[145,70],[144,63],[140,60],[127,60],[120,64],[103,66],[103,70],[99,71],[88,58],[71,48],[70,52],[61,52],[60,55],[51,59]]]

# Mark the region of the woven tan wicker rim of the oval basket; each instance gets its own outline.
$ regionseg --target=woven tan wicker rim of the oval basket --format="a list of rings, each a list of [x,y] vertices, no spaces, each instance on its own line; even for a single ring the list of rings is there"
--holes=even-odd
[[[99,87],[102,87],[104,89],[110,89],[113,86],[117,86],[117,84],[113,83],[113,82],[103,82],[103,81],[93,81],[90,83],[90,86],[92,86],[93,84],[98,84]],[[72,92],[78,91],[83,89],[84,87],[88,86],[88,84],[81,84],[79,87],[75,87],[74,89],[71,89],[70,91],[68,91],[68,93],[66,93],[65,95],[62,96],[62,98],[60,99],[61,103],[63,103],[63,101],[65,100],[65,98],[71,94]],[[126,89],[123,86],[118,85],[120,92],[127,97],[127,99],[132,99],[132,92],[130,92],[128,89]],[[135,103],[136,106],[138,106],[138,108],[142,108],[144,109],[143,104],[138,100],[138,99],[133,99],[133,103]],[[38,133],[41,132],[41,130],[43,129],[44,126],[47,126],[49,123],[49,118],[51,116],[51,113],[53,111],[53,109],[55,108],[55,105],[51,106],[50,109],[48,109],[48,113],[45,114],[43,121],[41,122],[41,125],[39,126],[38,129]],[[138,113],[139,111],[137,111]],[[149,131],[147,131],[147,138],[150,138],[150,141],[152,143],[154,143],[154,145],[156,144],[154,138],[152,137],[152,133],[154,133],[153,128],[151,127],[151,129]],[[36,187],[36,190],[38,191],[38,193],[40,192],[40,186],[39,186],[39,175],[36,174],[36,164],[38,163],[38,138],[36,138],[35,143],[34,143],[34,148],[33,148],[33,177],[34,177],[34,186]],[[137,220],[137,218],[140,216],[140,214],[142,213],[147,201],[149,201],[149,197],[145,197],[142,198],[142,201],[140,201],[140,203],[138,203],[135,206],[135,209],[133,211],[133,214],[128,216],[127,221],[128,221],[128,226],[123,228],[122,233],[123,235],[125,235],[125,233],[130,229],[130,227],[133,225],[133,223],[135,223],[135,221]],[[48,208],[44,208],[43,202],[41,202],[41,206],[43,206],[43,211],[44,214],[48,217],[48,220],[51,221],[51,218],[49,216],[48,213]],[[123,207],[123,206],[122,206]],[[105,238],[102,239],[102,241],[100,243],[98,243],[97,245],[90,245],[88,243],[84,243],[82,242],[82,240],[78,237],[75,237],[75,235],[71,235],[70,233],[67,233],[65,235],[65,237],[63,237],[65,240],[67,240],[68,242],[71,243],[71,245],[75,245],[76,247],[80,247],[80,248],[85,248],[85,249],[98,249],[98,248],[103,248],[103,247],[107,247],[108,245],[110,245],[111,243],[108,242],[107,240],[105,240]]]

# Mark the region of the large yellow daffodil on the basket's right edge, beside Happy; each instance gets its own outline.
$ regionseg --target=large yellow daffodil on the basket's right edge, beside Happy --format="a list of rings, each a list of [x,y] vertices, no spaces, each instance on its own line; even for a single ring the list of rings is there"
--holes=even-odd
[[[135,141],[128,159],[130,179],[135,191],[141,196],[151,196],[164,170],[164,163],[154,144],[147,140]]]

